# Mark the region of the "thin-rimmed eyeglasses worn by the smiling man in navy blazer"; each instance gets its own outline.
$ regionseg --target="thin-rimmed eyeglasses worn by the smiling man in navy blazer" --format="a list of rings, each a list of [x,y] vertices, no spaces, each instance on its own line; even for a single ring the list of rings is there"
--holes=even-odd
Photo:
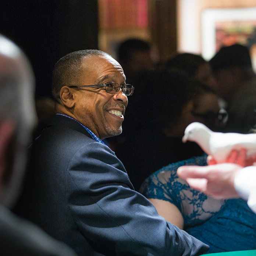
[[[117,94],[119,92],[119,90],[121,89],[122,92],[128,96],[131,96],[134,91],[133,85],[130,85],[130,84],[119,85],[118,83],[115,83],[115,82],[108,82],[108,83],[104,83],[102,85],[69,86],[69,88],[80,88],[80,87],[104,87],[106,92],[111,93],[111,94]]]

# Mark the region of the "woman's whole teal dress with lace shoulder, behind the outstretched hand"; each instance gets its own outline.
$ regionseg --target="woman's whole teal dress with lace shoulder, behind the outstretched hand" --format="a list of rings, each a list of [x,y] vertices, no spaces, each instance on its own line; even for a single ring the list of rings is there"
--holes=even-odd
[[[217,200],[192,189],[177,176],[184,165],[206,165],[206,155],[170,164],[150,175],[140,192],[173,203],[184,230],[210,246],[208,253],[256,249],[256,214],[242,199]]]

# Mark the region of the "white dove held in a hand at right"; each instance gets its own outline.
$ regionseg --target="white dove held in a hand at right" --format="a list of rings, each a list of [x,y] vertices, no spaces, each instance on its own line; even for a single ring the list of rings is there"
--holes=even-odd
[[[217,163],[224,163],[232,149],[246,149],[247,158],[256,155],[256,134],[213,132],[200,122],[193,122],[186,127],[182,142],[186,141],[198,143]]]

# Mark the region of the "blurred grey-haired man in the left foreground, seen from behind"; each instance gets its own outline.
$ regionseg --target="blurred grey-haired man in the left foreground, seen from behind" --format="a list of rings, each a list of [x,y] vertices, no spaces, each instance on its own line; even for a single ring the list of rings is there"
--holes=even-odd
[[[75,256],[67,246],[9,210],[21,189],[25,149],[37,121],[33,80],[25,55],[0,35],[0,254]]]

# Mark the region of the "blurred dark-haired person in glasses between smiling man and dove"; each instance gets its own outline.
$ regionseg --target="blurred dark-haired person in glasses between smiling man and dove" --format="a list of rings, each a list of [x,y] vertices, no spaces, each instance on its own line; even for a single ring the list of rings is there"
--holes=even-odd
[[[130,124],[126,140],[115,149],[135,190],[150,174],[168,164],[200,156],[193,142],[181,141],[191,122],[202,122],[217,131],[218,97],[213,89],[166,68],[141,74],[141,99],[129,108]],[[123,149],[129,153],[124,156]]]

